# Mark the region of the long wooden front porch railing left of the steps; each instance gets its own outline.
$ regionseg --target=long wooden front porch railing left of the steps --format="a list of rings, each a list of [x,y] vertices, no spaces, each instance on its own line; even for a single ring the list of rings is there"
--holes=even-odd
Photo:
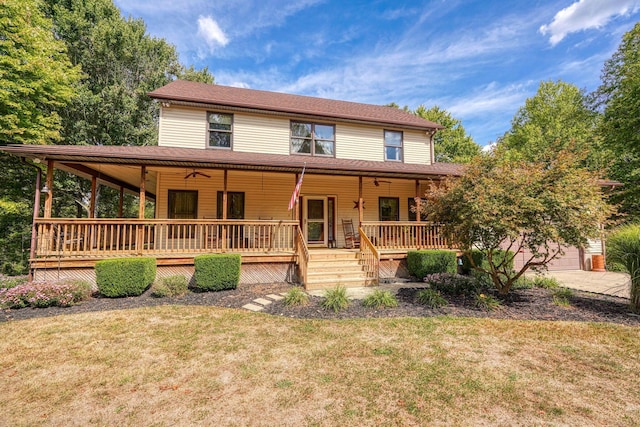
[[[174,219],[36,220],[36,258],[210,252],[294,252],[296,221]]]

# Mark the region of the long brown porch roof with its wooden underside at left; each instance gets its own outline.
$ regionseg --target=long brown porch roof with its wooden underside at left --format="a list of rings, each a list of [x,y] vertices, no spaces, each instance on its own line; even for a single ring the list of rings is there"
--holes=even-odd
[[[459,176],[462,173],[462,167],[452,163],[417,165],[157,146],[8,145],[0,147],[0,151],[33,160],[82,164],[99,170],[105,176],[110,175],[135,186],[138,185],[139,177],[136,178],[130,168],[122,166],[145,165],[296,173],[306,165],[307,174],[404,179],[434,179]]]

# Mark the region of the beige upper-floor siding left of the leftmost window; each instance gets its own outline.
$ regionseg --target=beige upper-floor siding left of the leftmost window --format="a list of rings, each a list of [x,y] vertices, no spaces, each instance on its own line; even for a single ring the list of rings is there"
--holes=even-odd
[[[162,107],[158,145],[164,147],[206,148],[207,113],[176,107]]]

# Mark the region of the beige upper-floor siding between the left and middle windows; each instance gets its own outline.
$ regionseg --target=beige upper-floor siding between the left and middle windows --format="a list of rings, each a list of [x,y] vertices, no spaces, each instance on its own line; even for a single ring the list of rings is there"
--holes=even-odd
[[[233,115],[233,151],[287,155],[289,135],[288,119]]]

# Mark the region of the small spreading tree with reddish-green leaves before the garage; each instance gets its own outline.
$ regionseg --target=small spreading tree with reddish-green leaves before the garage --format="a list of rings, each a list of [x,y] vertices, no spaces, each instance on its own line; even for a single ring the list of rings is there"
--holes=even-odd
[[[581,160],[571,147],[536,161],[514,160],[498,147],[476,157],[462,177],[432,189],[423,209],[505,295],[527,270],[544,269],[562,255],[562,246],[585,247],[611,213],[597,175],[580,167]],[[485,253],[488,266],[474,265],[473,249]],[[502,256],[505,249],[511,252]],[[512,271],[523,249],[531,256]]]

